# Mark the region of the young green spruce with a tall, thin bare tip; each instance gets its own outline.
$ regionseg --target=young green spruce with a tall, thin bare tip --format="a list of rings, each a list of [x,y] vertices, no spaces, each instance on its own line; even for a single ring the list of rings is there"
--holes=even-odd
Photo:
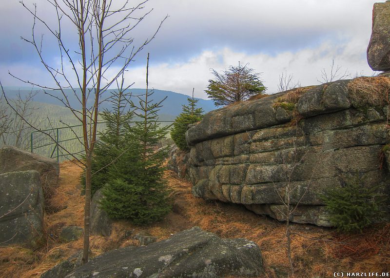
[[[153,92],[148,91],[148,78],[146,80],[145,95],[137,96],[139,103],[130,101],[134,114],[140,119],[135,126],[129,127],[133,158],[117,159],[116,167],[126,170],[115,173],[116,177],[110,176],[113,179],[103,187],[104,198],[100,201],[101,208],[111,218],[129,219],[136,224],[158,221],[171,210],[163,179],[164,149],[156,150],[168,129],[160,128],[157,122],[157,112],[164,99],[153,103],[150,99]]]

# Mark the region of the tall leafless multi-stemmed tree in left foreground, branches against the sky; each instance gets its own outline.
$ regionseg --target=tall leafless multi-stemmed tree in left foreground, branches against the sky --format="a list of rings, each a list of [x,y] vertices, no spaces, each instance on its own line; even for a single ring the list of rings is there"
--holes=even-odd
[[[97,141],[99,103],[103,93],[122,76],[134,57],[156,36],[165,17],[156,27],[152,36],[134,46],[132,30],[148,16],[153,9],[145,10],[144,0],[130,6],[127,0],[46,0],[56,15],[57,24],[51,25],[45,15],[37,13],[37,5],[21,5],[33,18],[32,36],[22,38],[30,43],[38,54],[54,85],[45,85],[15,78],[42,88],[45,94],[61,101],[82,123],[81,142],[85,149],[85,206],[84,206],[84,245],[82,263],[88,261],[90,202],[91,202],[91,164]],[[43,35],[37,26],[42,26],[58,42],[59,64],[50,63],[42,51]],[[64,29],[72,26],[77,34],[77,43],[67,40]],[[75,86],[75,84],[77,86]],[[75,88],[76,87],[76,88]],[[70,93],[69,93],[70,92]],[[4,95],[5,96],[5,95]],[[76,98],[81,107],[71,105]],[[7,100],[9,103],[9,101]],[[15,109],[13,108],[15,111]],[[33,126],[30,124],[30,126]],[[50,136],[50,135],[49,135]],[[53,139],[53,138],[52,138]],[[66,152],[66,150],[64,150]]]

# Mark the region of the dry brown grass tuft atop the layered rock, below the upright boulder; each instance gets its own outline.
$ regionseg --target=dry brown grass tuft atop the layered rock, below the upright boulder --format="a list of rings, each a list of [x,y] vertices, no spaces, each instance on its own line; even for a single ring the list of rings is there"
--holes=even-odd
[[[383,106],[389,103],[390,78],[359,77],[348,83],[355,107]]]

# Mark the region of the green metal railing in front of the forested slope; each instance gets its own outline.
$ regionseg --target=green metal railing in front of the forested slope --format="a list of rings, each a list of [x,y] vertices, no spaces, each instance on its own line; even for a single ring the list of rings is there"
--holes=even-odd
[[[134,121],[134,123],[137,122],[137,121]],[[173,123],[174,121],[173,120],[158,120],[157,122],[159,123]],[[98,124],[102,124],[102,123],[105,123],[105,122],[98,122]],[[58,128],[51,128],[51,129],[45,129],[45,130],[39,130],[39,131],[32,131],[31,132],[31,135],[30,135],[30,151],[32,153],[34,153],[34,150],[37,150],[37,149],[40,149],[40,148],[43,148],[43,147],[48,147],[48,146],[51,146],[51,145],[54,145],[53,147],[53,151],[51,151],[51,155],[50,155],[50,158],[53,159],[53,158],[56,158],[57,161],[59,161],[59,158],[60,157],[65,157],[65,156],[69,156],[69,155],[78,155],[78,154],[81,154],[81,153],[84,153],[85,150],[81,150],[81,151],[78,151],[76,153],[67,153],[67,154],[60,154],[60,143],[62,142],[67,142],[67,141],[71,141],[71,140],[76,140],[76,139],[82,139],[83,137],[82,136],[77,136],[77,137],[73,137],[73,138],[69,138],[69,139],[63,139],[63,140],[59,140],[59,130],[60,129],[72,129],[74,127],[79,127],[79,126],[82,126],[82,124],[78,124],[78,125],[72,125],[72,126],[64,126],[64,127],[58,127]],[[50,143],[47,143],[47,144],[44,144],[44,145],[40,145],[40,146],[34,146],[34,134],[35,133],[40,133],[42,134],[42,132],[45,132],[45,133],[50,133],[51,131],[56,131],[55,132],[55,135],[54,135],[54,138],[53,137],[49,137],[49,139],[52,141]],[[57,152],[56,152],[57,151]],[[56,156],[54,156],[54,154],[56,153]]]

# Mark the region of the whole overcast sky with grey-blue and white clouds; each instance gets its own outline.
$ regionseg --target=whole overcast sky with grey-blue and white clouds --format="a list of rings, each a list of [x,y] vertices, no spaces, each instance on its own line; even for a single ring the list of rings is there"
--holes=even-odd
[[[37,3],[38,12],[54,22],[44,0],[24,2]],[[371,76],[366,49],[374,2],[378,1],[149,0],[146,8],[154,10],[135,30],[135,38],[150,36],[160,20],[169,18],[129,67],[126,81],[135,82],[134,88],[145,87],[146,52],[150,87],[187,95],[195,87],[195,97],[203,99],[208,79],[213,78],[211,68],[222,71],[238,61],[262,73],[267,93],[277,92],[283,72],[302,86],[318,84],[321,70],[328,71],[332,60],[352,77]],[[48,79],[34,49],[20,40],[31,36],[31,26],[32,18],[18,0],[3,1],[0,80],[5,86],[21,85],[8,71],[34,82]],[[67,31],[72,34],[72,29]],[[43,33],[49,45],[44,49],[47,59],[58,60],[49,34]]]

